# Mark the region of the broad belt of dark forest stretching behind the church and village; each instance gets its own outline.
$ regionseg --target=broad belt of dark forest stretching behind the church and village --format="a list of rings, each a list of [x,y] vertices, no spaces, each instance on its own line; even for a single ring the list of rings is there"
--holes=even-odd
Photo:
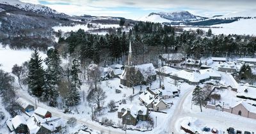
[[[157,65],[157,56],[164,53],[180,52],[200,59],[204,56],[254,57],[256,50],[253,36],[214,35],[211,29],[207,32],[201,29],[183,31],[179,27],[151,22],[138,22],[129,32],[118,28],[115,33],[104,36],[79,29],[66,39],[60,37],[57,48],[63,57],[106,65],[125,61],[129,41],[132,42],[134,64],[150,62]]]

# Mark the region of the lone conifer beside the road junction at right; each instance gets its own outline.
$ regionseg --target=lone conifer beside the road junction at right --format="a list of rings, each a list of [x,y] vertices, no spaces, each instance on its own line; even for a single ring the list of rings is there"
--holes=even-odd
[[[199,105],[200,106],[200,110],[202,112],[202,105],[206,104],[205,101],[205,96],[204,96],[204,91],[201,87],[196,86],[196,88],[194,89],[193,93],[192,93],[192,101],[195,105]]]

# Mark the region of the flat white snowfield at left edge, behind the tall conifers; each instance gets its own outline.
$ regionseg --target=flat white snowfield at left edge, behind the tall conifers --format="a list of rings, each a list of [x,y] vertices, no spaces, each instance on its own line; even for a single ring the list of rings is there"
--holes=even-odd
[[[10,47],[5,47],[0,43],[0,69],[12,72],[12,67],[14,64],[22,65],[25,61],[29,61],[33,50],[29,49],[21,49],[21,50],[13,50]],[[47,57],[43,52],[39,52],[39,55],[44,59]],[[43,65],[45,65],[43,63]]]

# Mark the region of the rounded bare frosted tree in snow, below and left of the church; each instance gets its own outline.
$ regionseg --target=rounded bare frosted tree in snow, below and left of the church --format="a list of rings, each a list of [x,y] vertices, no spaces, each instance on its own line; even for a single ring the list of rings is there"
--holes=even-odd
[[[104,92],[103,89],[101,89],[101,88],[98,88],[97,90],[93,89],[91,92],[93,94],[92,94],[90,100],[88,100],[88,101],[91,104],[96,104],[97,108],[100,109],[100,106],[104,104],[104,100],[107,98],[106,92]]]

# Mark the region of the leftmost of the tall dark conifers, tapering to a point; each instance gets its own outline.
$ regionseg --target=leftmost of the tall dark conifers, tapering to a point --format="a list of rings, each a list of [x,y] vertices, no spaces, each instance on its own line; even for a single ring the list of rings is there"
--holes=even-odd
[[[35,49],[28,63],[28,88],[36,97],[42,96],[44,92],[45,71],[42,66],[42,59]]]

